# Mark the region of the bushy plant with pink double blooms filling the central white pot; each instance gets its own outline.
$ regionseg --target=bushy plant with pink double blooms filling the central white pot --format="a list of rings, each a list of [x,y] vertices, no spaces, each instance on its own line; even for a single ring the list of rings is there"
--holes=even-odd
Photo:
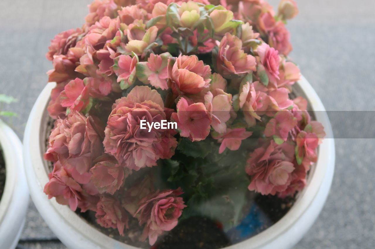
[[[278,12],[264,0],[96,0],[89,10],[46,55],[57,83],[49,198],[121,236],[137,220],[137,239],[153,245],[192,215],[235,226],[249,191],[283,198],[306,185],[325,133],[291,98],[293,0]],[[142,129],[162,120],[177,129]]]

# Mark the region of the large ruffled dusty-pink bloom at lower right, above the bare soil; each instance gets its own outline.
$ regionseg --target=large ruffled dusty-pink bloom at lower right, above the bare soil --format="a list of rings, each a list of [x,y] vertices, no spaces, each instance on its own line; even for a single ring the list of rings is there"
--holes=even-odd
[[[246,173],[252,176],[249,190],[263,195],[275,195],[290,185],[294,170],[292,163],[294,147],[288,143],[276,145],[272,140],[250,154]]]

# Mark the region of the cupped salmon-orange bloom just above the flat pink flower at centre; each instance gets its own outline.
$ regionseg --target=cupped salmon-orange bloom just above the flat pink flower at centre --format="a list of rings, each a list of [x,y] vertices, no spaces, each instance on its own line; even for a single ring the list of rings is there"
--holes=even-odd
[[[169,58],[168,77],[175,95],[196,94],[209,86],[211,68],[196,55],[180,55],[174,63],[172,59]]]

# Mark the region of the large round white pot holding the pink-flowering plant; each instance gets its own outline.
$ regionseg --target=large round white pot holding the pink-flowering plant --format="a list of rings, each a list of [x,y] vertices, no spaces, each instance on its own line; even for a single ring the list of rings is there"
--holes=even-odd
[[[49,83],[40,93],[25,130],[24,165],[31,198],[51,230],[68,248],[134,248],[101,233],[72,212],[69,206],[58,204],[54,198],[48,200],[43,193],[43,187],[48,182],[48,167],[43,160],[49,129],[46,123],[46,106],[54,86],[55,83]],[[297,95],[308,99],[317,121],[325,127],[327,138],[319,147],[318,162],[310,170],[308,185],[299,193],[295,204],[281,220],[256,236],[227,247],[228,249],[291,248],[314,223],[326,201],[335,166],[332,128],[323,104],[305,78],[295,84],[294,90]]]

